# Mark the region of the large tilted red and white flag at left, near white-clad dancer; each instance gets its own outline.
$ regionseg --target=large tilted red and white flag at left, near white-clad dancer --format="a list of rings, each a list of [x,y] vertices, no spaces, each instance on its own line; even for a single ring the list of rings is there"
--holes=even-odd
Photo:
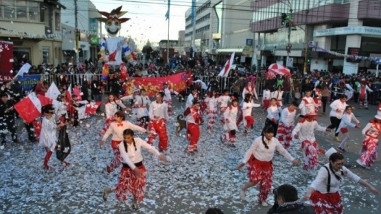
[[[19,112],[20,117],[27,123],[31,123],[41,115],[41,102],[35,93],[30,93],[20,102],[14,104],[14,109]]]

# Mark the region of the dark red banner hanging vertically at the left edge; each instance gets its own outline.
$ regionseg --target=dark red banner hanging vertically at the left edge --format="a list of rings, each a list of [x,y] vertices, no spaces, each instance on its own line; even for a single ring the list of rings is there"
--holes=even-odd
[[[0,82],[13,78],[13,43],[0,41]]]

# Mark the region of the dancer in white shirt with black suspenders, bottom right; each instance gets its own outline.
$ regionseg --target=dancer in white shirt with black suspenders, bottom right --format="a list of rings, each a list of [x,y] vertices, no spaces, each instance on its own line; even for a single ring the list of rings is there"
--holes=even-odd
[[[362,180],[344,166],[344,156],[342,154],[334,152],[330,155],[330,163],[320,168],[318,175],[302,200],[310,199],[315,213],[343,213],[343,202],[338,189],[344,176],[353,182],[358,182],[360,185],[367,187],[372,193],[378,195],[376,188],[372,187],[368,182]]]

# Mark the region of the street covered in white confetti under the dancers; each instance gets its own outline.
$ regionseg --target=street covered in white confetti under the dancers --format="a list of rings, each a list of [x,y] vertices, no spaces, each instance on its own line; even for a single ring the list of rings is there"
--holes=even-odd
[[[185,130],[181,131],[179,137],[175,131],[176,116],[183,113],[185,103],[178,103],[177,99],[173,102],[175,114],[167,122],[170,149],[166,153],[172,160],[163,163],[152,154],[143,152],[147,186],[144,200],[136,213],[205,213],[209,207],[219,208],[224,213],[266,213],[270,206],[257,204],[259,187],[255,186],[246,192],[246,201],[240,200],[240,187],[248,180],[247,169],[243,167],[239,171],[235,170],[244,152],[262,131],[266,119],[264,110],[254,108],[255,126],[249,134],[243,134],[241,124],[236,147],[220,142],[223,130],[219,120],[212,134],[206,132],[207,124],[204,123],[198,153],[192,155],[184,152],[188,145]],[[351,104],[354,103],[349,102]],[[317,121],[321,126],[330,125],[329,110],[330,108],[327,115],[321,115],[321,110],[319,111]],[[345,148],[347,152],[343,155],[348,169],[381,191],[380,157],[371,169],[363,169],[356,164],[362,145],[361,130],[376,113],[377,106],[369,106],[369,110],[354,110],[361,128],[349,128],[351,141],[347,143],[349,147]],[[204,119],[206,120],[206,115]],[[67,161],[71,165],[60,165],[54,154],[50,160],[54,169],[45,171],[45,151],[36,143],[27,141],[27,133],[19,121],[21,145],[7,143],[0,152],[0,213],[128,213],[126,209],[131,205],[132,198],[129,198],[128,204],[117,202],[111,193],[108,202],[102,200],[104,188],[116,185],[119,176],[119,169],[112,174],[104,171],[113,158],[113,152],[110,139],[100,149],[100,137],[97,134],[103,124],[104,117],[98,115],[84,119],[79,128],[69,128],[72,151]],[[338,142],[333,140],[333,130],[330,133],[315,134],[323,149],[338,146]],[[137,136],[142,139],[147,137],[146,134]],[[339,138],[342,138],[341,134]],[[154,146],[157,147],[157,141]],[[299,141],[293,141],[290,154],[303,161]],[[319,162],[323,165],[328,160],[321,155]],[[304,172],[301,165],[292,166],[279,154],[275,155],[273,166],[273,188],[286,183],[294,185],[299,191],[299,198],[314,179]],[[373,195],[359,184],[344,179],[340,194],[343,197],[344,213],[380,213],[380,196]],[[273,202],[273,194],[270,193],[268,204],[272,205]]]

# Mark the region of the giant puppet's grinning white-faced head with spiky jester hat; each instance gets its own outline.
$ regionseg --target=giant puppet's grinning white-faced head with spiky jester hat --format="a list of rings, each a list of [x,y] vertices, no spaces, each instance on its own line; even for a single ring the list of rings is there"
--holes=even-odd
[[[117,9],[114,9],[113,11],[111,11],[111,13],[98,11],[100,14],[106,16],[106,18],[97,18],[97,21],[102,21],[106,24],[104,28],[108,32],[108,36],[117,36],[117,33],[121,28],[121,24],[130,20],[129,18],[119,19],[119,17],[127,13],[127,11],[120,10],[122,10],[122,6],[120,6]]]

